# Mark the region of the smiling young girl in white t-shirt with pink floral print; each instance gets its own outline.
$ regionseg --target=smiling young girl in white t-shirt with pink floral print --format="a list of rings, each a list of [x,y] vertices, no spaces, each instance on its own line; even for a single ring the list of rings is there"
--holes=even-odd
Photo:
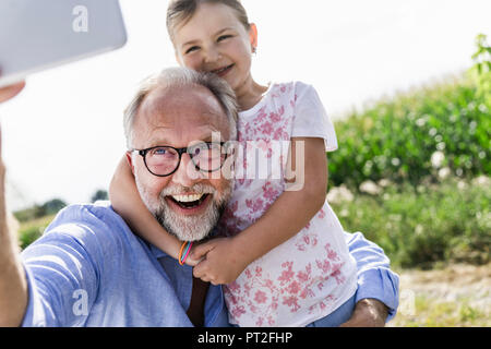
[[[346,321],[355,305],[356,262],[325,201],[325,152],[335,151],[337,141],[316,92],[300,82],[263,86],[252,79],[258,31],[237,0],[171,1],[167,26],[179,64],[213,72],[235,91],[242,110],[239,144],[266,145],[263,158],[282,169],[279,179],[277,168],[261,178],[236,179],[217,227],[221,238],[194,246],[188,257],[194,276],[227,284],[231,324],[322,325],[339,309],[347,309]],[[267,145],[274,142],[291,142],[291,173],[285,173],[282,159],[271,157]],[[247,172],[253,160],[239,154],[236,170]],[[124,159],[110,196],[135,232],[178,258],[182,242],[164,231],[141,202]]]

